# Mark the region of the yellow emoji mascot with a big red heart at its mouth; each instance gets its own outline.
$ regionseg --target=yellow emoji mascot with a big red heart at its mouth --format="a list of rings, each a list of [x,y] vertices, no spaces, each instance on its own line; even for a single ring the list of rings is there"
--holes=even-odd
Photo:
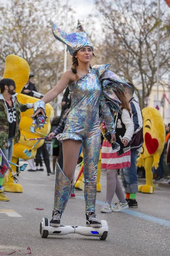
[[[137,166],[144,166],[146,184],[139,185],[139,192],[152,194],[155,190],[152,167],[158,168],[164,148],[165,128],[163,118],[156,108],[143,108],[142,115],[144,143]]]

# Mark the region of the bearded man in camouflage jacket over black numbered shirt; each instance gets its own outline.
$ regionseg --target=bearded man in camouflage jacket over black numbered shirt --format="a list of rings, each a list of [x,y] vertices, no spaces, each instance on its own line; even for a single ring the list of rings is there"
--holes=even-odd
[[[24,105],[17,101],[15,82],[12,79],[0,81],[0,148],[8,161],[12,158],[13,139],[14,144],[20,140],[20,112],[33,108],[33,105],[32,103]],[[2,160],[1,166],[4,164]],[[1,190],[4,176],[5,173],[0,172],[0,201],[9,201]]]

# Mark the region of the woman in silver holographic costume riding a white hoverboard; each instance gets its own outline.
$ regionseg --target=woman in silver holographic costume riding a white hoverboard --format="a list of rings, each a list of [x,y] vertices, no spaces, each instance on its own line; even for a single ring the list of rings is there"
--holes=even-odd
[[[38,113],[45,115],[45,103],[52,101],[67,85],[71,94],[71,111],[62,134],[57,139],[62,142],[63,170],[57,164],[54,195],[54,210],[50,225],[60,226],[72,191],[73,179],[79,150],[82,145],[85,178],[86,226],[101,227],[95,214],[96,174],[100,152],[100,123],[105,119],[111,141],[115,140],[113,111],[121,111],[119,99],[114,94],[115,87],[123,90],[121,84],[128,84],[115,73],[107,70],[110,64],[95,65],[91,68],[94,47],[78,20],[75,33],[67,34],[52,23],[54,37],[67,45],[72,55],[73,66],[66,71],[59,83],[41,101],[35,103],[34,121]],[[112,90],[113,89],[113,90]],[[45,102],[45,103],[44,103]]]

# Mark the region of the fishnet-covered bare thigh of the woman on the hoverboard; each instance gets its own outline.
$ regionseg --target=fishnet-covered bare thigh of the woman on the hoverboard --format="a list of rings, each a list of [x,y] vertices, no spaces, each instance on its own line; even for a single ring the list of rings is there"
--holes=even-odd
[[[82,142],[80,140],[63,140],[62,141],[62,153],[63,153],[62,172],[70,181],[73,179],[74,172],[77,166],[77,160],[79,157],[81,144]]]

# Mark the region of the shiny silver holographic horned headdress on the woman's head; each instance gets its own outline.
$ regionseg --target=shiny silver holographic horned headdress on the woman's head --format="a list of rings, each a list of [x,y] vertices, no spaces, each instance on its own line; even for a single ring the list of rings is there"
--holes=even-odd
[[[88,37],[88,34],[85,32],[79,20],[77,23],[77,29],[75,33],[67,34],[61,29],[59,29],[59,27],[57,27],[53,22],[52,31],[54,37],[57,40],[67,45],[67,49],[69,50],[72,56],[75,52],[77,52],[79,49],[85,46],[89,46],[92,48],[92,50],[94,50],[94,47]]]

